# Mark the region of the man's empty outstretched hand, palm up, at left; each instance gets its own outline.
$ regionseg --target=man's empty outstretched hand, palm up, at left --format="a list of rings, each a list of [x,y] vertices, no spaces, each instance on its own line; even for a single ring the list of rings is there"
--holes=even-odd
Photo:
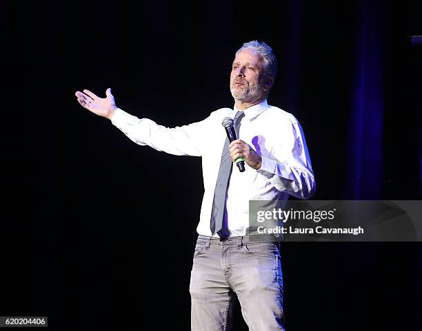
[[[74,94],[77,96],[81,106],[98,116],[111,120],[114,111],[117,109],[116,103],[114,102],[114,96],[111,94],[111,89],[106,90],[106,98],[99,98],[88,89],[84,89],[83,92],[84,93],[77,91]]]

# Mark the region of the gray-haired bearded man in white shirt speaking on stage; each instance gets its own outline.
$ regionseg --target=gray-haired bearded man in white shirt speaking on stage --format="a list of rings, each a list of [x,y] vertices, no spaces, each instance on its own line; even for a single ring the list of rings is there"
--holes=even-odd
[[[174,128],[125,113],[110,89],[106,98],[76,93],[83,107],[110,119],[137,144],[202,158],[205,191],[190,279],[194,331],[230,330],[235,295],[250,330],[284,330],[279,245],[248,236],[249,201],[307,199],[315,181],[299,122],[267,103],[276,72],[270,46],[244,43],[230,74],[234,109]],[[234,118],[239,137],[230,145],[221,127],[226,117]],[[232,167],[238,158],[244,172]]]

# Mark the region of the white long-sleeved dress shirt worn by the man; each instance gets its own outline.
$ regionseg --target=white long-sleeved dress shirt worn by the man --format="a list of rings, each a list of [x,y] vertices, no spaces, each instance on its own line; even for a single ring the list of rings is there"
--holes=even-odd
[[[223,118],[234,118],[239,111],[221,108],[208,118],[190,125],[168,128],[148,118],[137,118],[121,109],[112,116],[112,124],[139,145],[174,155],[201,156],[204,194],[197,232],[212,235],[210,217],[214,189],[225,143]],[[261,168],[245,171],[234,165],[228,196],[228,229],[230,236],[245,235],[249,224],[249,200],[287,200],[288,195],[308,199],[315,191],[314,173],[299,122],[282,109],[263,100],[244,110],[239,139],[247,142],[262,157]],[[218,237],[218,235],[214,235]]]

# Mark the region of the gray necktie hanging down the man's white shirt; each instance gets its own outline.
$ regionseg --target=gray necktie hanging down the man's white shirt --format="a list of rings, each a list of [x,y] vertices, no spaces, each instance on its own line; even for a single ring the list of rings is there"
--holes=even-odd
[[[241,119],[245,116],[243,111],[237,111],[234,116],[234,130],[239,138],[239,127]],[[210,229],[212,235],[217,233],[220,237],[225,238],[230,235],[227,224],[227,211],[225,210],[225,196],[227,194],[228,182],[232,174],[232,158],[229,153],[230,142],[225,138],[223,153],[221,154],[221,163],[217,184],[215,185],[214,201],[212,202]]]

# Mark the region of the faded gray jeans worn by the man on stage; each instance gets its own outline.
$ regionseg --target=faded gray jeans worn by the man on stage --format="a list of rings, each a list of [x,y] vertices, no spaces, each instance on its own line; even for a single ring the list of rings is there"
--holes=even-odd
[[[284,330],[279,244],[199,235],[190,277],[192,331],[230,330],[236,296],[250,331]]]

